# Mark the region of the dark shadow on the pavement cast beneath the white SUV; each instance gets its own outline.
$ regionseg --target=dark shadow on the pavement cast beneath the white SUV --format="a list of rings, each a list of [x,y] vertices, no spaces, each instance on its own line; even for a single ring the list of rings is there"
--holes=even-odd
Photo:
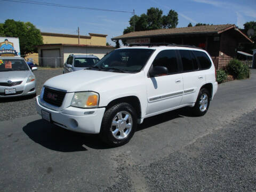
[[[137,131],[184,116],[191,116],[187,108],[149,117],[146,118],[141,125],[138,125]],[[93,149],[110,148],[100,140],[99,135],[97,134],[84,134],[68,131],[56,125],[49,124],[43,119],[28,123],[23,127],[23,131],[31,140],[39,143],[43,147],[55,151],[86,151],[86,147]]]

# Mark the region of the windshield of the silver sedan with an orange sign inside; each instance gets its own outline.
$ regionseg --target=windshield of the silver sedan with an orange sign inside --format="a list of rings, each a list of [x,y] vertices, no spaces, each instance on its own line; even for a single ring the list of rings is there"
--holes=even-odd
[[[29,70],[22,59],[0,59],[0,71]]]

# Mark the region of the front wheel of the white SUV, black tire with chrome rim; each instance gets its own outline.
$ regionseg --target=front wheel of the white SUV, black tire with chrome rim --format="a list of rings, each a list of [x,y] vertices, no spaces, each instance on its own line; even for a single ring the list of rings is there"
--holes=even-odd
[[[122,146],[132,138],[136,127],[135,109],[129,103],[118,103],[105,112],[100,137],[111,147]]]

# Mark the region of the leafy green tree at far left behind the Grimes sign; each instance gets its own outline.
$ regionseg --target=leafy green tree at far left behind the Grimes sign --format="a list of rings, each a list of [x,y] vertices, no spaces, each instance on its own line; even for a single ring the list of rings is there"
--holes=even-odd
[[[14,21],[13,19],[7,19],[3,23],[2,28],[3,30],[1,30],[1,36],[19,37],[21,55],[36,53],[36,46],[43,44],[41,31],[30,22]]]

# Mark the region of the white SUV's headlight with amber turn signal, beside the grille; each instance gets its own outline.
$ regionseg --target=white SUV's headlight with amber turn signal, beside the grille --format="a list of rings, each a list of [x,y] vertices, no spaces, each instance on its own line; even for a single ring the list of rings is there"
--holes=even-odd
[[[76,92],[70,105],[81,108],[98,107],[99,94],[95,92]]]

